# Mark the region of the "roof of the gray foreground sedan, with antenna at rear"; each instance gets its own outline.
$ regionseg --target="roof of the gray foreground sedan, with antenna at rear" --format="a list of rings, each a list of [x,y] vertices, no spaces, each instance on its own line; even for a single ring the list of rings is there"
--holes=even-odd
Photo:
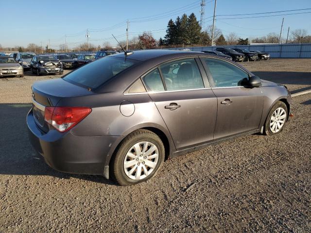
[[[130,55],[127,55],[127,58],[138,60],[138,61],[146,61],[155,57],[165,56],[165,55],[172,55],[172,54],[179,54],[180,56],[189,56],[189,55],[198,55],[202,54],[201,52],[193,52],[193,51],[183,51],[183,50],[137,50],[132,51],[133,53]],[[123,52],[121,53],[115,53],[110,56],[116,56],[116,57],[123,57],[125,58],[125,55]]]

